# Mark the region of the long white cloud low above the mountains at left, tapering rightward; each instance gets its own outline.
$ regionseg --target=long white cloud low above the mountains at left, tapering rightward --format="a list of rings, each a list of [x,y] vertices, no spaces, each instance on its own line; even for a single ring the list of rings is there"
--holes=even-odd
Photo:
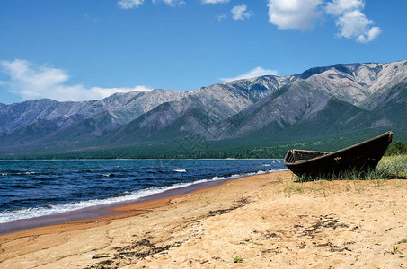
[[[15,59],[0,63],[2,71],[10,76],[6,82],[9,91],[21,96],[23,100],[49,98],[66,100],[101,100],[115,92],[150,91],[144,86],[134,88],[86,88],[81,84],[68,85],[66,71],[47,65],[32,65],[28,61]]]

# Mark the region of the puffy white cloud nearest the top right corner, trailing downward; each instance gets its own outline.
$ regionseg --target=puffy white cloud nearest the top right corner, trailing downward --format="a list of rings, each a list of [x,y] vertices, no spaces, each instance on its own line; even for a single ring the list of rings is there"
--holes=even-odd
[[[336,25],[339,37],[356,39],[367,43],[376,39],[382,30],[371,26],[374,22],[361,12],[365,8],[363,0],[333,0],[326,4],[326,13],[337,17]]]

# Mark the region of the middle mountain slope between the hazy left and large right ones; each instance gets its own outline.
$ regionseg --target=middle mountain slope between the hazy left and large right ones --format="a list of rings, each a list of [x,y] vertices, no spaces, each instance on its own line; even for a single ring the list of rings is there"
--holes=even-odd
[[[186,132],[208,133],[220,120],[232,117],[270,92],[277,91],[275,77],[211,85],[190,95],[164,103],[118,130],[107,134],[110,143],[135,143],[168,139]],[[272,81],[270,83],[267,83]],[[101,138],[103,140],[103,138]]]

